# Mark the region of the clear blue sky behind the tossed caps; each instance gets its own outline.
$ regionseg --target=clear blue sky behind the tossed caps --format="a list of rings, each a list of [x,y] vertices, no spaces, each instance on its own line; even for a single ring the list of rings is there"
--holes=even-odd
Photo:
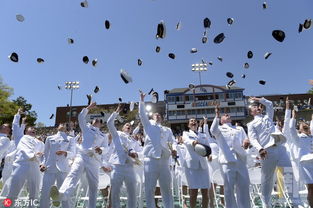
[[[70,92],[58,90],[65,81],[80,81],[74,92],[73,105],[87,103],[86,94],[96,85],[100,92],[94,96],[98,103],[137,101],[138,89],[154,88],[162,94],[165,89],[199,83],[191,64],[202,58],[213,61],[202,73],[202,83],[225,85],[235,75],[237,86],[246,95],[304,93],[313,78],[313,29],[298,34],[298,25],[313,18],[312,0],[268,1],[262,9],[260,0],[89,0],[89,7],[80,7],[79,0],[2,0],[0,6],[0,75],[14,88],[14,95],[24,96],[33,104],[38,121],[53,125],[49,120],[57,106],[69,103]],[[18,22],[16,14],[25,17]],[[210,18],[208,42],[202,44],[203,19]],[[234,18],[233,25],[226,22]],[[111,22],[105,29],[104,21]],[[164,20],[165,39],[155,39],[156,26]],[[175,29],[178,21],[182,28]],[[272,30],[282,29],[285,41],[273,39]],[[223,32],[221,44],[214,37]],[[75,43],[69,45],[67,38]],[[161,47],[155,53],[155,47]],[[190,49],[198,53],[191,54]],[[252,59],[246,54],[251,50]],[[266,52],[272,52],[268,60]],[[19,63],[7,58],[19,54]],[[176,59],[168,58],[175,53]],[[97,58],[98,65],[84,64],[83,56]],[[223,62],[217,57],[223,57]],[[38,64],[41,57],[45,63]],[[143,65],[137,65],[137,59]],[[243,64],[248,62],[249,69]],[[119,76],[125,69],[133,83],[124,84]],[[247,75],[242,79],[241,74]],[[266,85],[259,85],[264,79]],[[163,98],[163,96],[161,96]]]

